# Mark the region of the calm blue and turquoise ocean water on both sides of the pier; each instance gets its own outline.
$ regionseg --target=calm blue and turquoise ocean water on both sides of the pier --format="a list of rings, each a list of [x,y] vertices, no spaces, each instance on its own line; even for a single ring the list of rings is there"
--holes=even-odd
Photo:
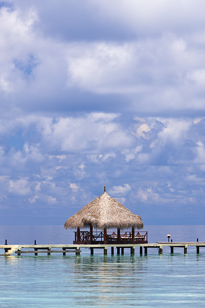
[[[148,242],[205,241],[205,226],[145,226]],[[0,244],[72,244],[62,226],[0,226]],[[205,248],[0,256],[0,307],[204,307]]]

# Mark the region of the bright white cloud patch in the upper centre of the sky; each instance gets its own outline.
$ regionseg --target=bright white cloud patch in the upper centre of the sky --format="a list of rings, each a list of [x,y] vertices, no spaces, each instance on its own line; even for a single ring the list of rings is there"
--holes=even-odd
[[[78,44],[75,49],[78,52],[74,56],[68,55],[69,86],[77,85],[84,90],[102,93],[109,85],[115,87],[117,83],[124,83],[122,72],[131,65],[132,45]]]

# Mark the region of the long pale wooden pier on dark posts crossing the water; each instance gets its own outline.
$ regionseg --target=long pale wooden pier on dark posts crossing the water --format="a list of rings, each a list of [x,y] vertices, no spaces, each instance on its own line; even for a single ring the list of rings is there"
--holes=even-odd
[[[158,252],[163,253],[163,247],[170,247],[170,253],[174,253],[175,247],[181,247],[184,249],[184,253],[187,253],[188,246],[195,246],[196,253],[199,253],[199,247],[205,247],[205,242],[156,242],[153,244],[143,243],[143,244],[81,244],[81,245],[0,245],[0,249],[4,249],[4,254],[2,256],[10,256],[13,253],[21,256],[22,254],[34,254],[38,255],[41,253],[46,253],[51,255],[53,253],[75,253],[80,255],[81,248],[89,248],[90,254],[93,255],[94,249],[104,249],[104,255],[107,255],[108,248],[111,248],[111,255],[114,254],[114,249],[117,250],[117,254],[124,254],[124,248],[130,249],[130,253],[134,254],[135,249],[140,247],[140,255],[143,253],[146,255],[148,253],[148,248],[156,248]],[[26,250],[25,250],[26,249]],[[29,249],[29,250],[28,250]],[[31,250],[32,249],[32,250]]]

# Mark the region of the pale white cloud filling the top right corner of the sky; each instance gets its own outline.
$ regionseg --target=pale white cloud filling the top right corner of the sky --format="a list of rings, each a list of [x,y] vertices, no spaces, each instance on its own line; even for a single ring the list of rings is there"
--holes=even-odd
[[[101,16],[120,22],[139,36],[156,36],[163,31],[187,33],[203,30],[203,1],[92,0],[92,3],[98,7]]]

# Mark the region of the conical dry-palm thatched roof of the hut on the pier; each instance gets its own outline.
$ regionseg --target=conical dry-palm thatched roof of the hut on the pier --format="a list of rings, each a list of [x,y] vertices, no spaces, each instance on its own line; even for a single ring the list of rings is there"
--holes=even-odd
[[[104,187],[105,188],[105,187]],[[120,202],[110,197],[105,189],[104,193],[85,205],[75,215],[70,217],[64,225],[65,229],[83,229],[90,224],[97,229],[120,228],[128,229],[135,227],[143,229],[143,222],[140,216],[133,214]]]

